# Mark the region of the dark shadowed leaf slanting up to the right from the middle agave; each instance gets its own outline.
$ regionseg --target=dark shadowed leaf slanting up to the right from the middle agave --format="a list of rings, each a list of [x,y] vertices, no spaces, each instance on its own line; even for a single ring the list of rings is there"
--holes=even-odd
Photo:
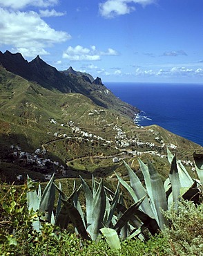
[[[137,201],[136,203],[133,203],[133,205],[131,205],[131,207],[128,208],[126,212],[124,212],[124,214],[122,214],[122,217],[120,217],[116,225],[113,227],[115,230],[117,230],[118,233],[120,232],[122,227],[129,221],[129,219],[131,219],[131,216],[135,214],[135,210],[139,208],[139,205],[141,205],[145,197],[146,196],[142,197],[142,199],[139,199],[139,201]]]

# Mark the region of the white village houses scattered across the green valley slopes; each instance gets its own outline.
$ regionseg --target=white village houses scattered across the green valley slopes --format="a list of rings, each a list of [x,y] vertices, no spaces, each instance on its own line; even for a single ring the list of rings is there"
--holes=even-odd
[[[95,111],[95,113],[101,113],[99,111]],[[90,112],[89,116],[93,116],[95,113]],[[164,140],[160,138],[160,134],[153,129],[147,129],[147,131],[154,136],[155,143],[151,142],[142,142],[139,138],[132,138],[126,135],[126,132],[122,130],[122,127],[113,125],[113,131],[115,131],[114,140],[109,140],[106,138],[102,138],[101,136],[96,136],[95,134],[88,133],[88,131],[84,131],[78,125],[75,125],[75,122],[70,120],[66,124],[59,124],[54,118],[50,118],[50,122],[53,125],[58,127],[69,127],[72,131],[72,136],[68,136],[67,134],[61,134],[59,131],[55,131],[54,134],[48,132],[50,136],[53,136],[54,139],[49,141],[48,143],[54,143],[56,140],[68,140],[70,138],[74,138],[75,140],[89,141],[93,143],[95,141],[101,143],[103,146],[115,147],[115,149],[119,150],[119,154],[116,156],[106,156],[112,158],[113,163],[118,163],[122,159],[126,157],[133,156],[141,156],[142,154],[151,154],[153,156],[159,156],[160,158],[166,158],[166,154],[162,154],[163,149],[168,147],[168,149],[176,149],[177,146],[172,143],[165,144]],[[144,127],[136,125],[137,129],[144,129]],[[136,149],[135,149],[136,148]],[[21,161],[22,163],[26,163],[26,165],[32,165],[35,167],[37,172],[41,172],[44,174],[44,180],[47,181],[50,179],[51,174],[55,172],[59,175],[59,177],[67,176],[67,165],[62,165],[59,161],[52,161],[50,158],[46,157],[46,143],[41,145],[40,148],[35,149],[35,152],[23,152],[21,151],[20,145],[11,145],[10,149],[12,150],[13,161]],[[95,156],[96,157],[96,156]],[[97,158],[101,158],[101,156],[97,156]],[[104,156],[103,156],[104,157]],[[74,161],[74,159],[72,159]],[[182,161],[182,164],[190,166],[191,170],[194,171],[195,167],[192,161]],[[17,176],[17,179],[20,181],[22,176]]]

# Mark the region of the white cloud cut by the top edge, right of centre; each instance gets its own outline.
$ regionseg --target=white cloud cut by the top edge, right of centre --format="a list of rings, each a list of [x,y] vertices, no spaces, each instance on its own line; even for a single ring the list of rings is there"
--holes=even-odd
[[[107,0],[104,3],[99,3],[99,12],[101,16],[106,18],[126,15],[135,10],[135,6],[130,5],[135,5],[135,3],[146,6],[155,3],[155,0]]]

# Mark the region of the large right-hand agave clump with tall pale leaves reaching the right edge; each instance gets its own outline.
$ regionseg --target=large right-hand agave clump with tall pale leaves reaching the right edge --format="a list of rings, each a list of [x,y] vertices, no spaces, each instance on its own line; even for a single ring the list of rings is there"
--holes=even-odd
[[[162,179],[158,172],[153,167],[152,163],[148,161],[145,165],[140,159],[138,159],[142,174],[144,176],[145,187],[141,181],[133,172],[131,167],[124,162],[128,171],[131,185],[128,185],[121,177],[117,175],[119,182],[126,188],[134,201],[141,199],[143,196],[147,196],[139,209],[136,210],[135,215],[140,220],[142,226],[146,226],[148,230],[155,234],[158,230],[164,230],[164,227],[168,225],[166,217],[164,217],[163,211],[168,210],[174,206],[177,208],[177,201],[181,197],[184,199],[193,199],[194,201],[200,200],[200,190],[197,188],[197,183],[189,173],[186,171],[184,165],[180,161],[177,161],[176,156],[171,154],[168,150],[168,161],[171,163],[171,170],[165,183],[162,183]],[[202,170],[203,161],[195,161],[200,170]],[[201,172],[202,174],[202,172]]]

